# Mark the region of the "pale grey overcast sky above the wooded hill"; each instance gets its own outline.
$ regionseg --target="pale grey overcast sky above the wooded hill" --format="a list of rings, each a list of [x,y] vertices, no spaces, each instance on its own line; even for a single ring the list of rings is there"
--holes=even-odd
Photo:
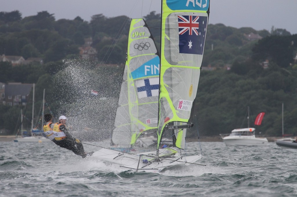
[[[141,18],[151,11],[161,13],[161,0],[0,0],[0,5],[0,12],[19,10],[22,17],[27,17],[48,11],[56,20],[80,16],[90,21],[95,14]],[[269,32],[274,26],[296,34],[297,0],[210,0],[208,23]]]

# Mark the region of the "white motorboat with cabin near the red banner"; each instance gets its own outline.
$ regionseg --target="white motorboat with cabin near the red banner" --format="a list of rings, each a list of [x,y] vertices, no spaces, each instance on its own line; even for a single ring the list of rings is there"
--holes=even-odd
[[[229,136],[222,137],[227,146],[264,146],[267,138],[256,138],[255,128],[234,129]]]

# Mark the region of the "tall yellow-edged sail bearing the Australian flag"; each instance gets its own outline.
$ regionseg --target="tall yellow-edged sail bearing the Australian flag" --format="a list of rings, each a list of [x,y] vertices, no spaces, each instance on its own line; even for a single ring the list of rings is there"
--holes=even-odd
[[[199,3],[200,2],[200,3]],[[209,14],[208,0],[162,1],[158,144],[165,125],[187,125],[196,97]],[[185,126],[181,126],[185,125]],[[175,129],[183,149],[186,129]],[[159,148],[159,146],[158,146]]]

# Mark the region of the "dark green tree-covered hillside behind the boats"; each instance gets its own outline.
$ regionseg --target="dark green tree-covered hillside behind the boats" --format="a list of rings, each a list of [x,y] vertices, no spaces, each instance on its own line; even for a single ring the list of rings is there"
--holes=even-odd
[[[159,48],[160,14],[144,17]],[[80,128],[111,130],[117,106],[119,84],[126,56],[129,18],[108,18],[102,14],[83,21],[55,20],[46,11],[22,18],[20,12],[0,12],[0,54],[40,57],[44,64],[12,66],[0,62],[0,82],[36,83],[36,105],[46,89],[46,112],[56,117],[71,114],[72,124]],[[253,33],[262,39],[250,40]],[[79,47],[92,38],[98,62],[79,59]],[[256,31],[209,24],[202,72],[195,105],[195,120],[200,134],[230,133],[247,127],[247,107],[251,110],[250,126],[255,117],[266,112],[262,125],[255,126],[262,135],[278,136],[282,129],[297,134],[297,35],[283,29]],[[268,63],[264,67],[263,62]],[[110,66],[117,64],[119,66]],[[90,96],[90,90],[99,96]],[[110,100],[100,100],[108,97]],[[0,129],[9,134],[18,128],[20,108],[30,125],[32,101],[27,106],[0,105]],[[35,107],[38,114],[39,107]],[[82,116],[84,114],[84,116]],[[87,114],[87,115],[86,115]],[[103,116],[102,114],[106,114]]]

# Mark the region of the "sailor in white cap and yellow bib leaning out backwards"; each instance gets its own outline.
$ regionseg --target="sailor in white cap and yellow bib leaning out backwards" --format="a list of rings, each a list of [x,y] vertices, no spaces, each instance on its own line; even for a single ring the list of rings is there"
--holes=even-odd
[[[79,139],[72,137],[66,128],[66,118],[65,116],[59,117],[59,122],[55,123],[53,127],[53,135],[55,137],[56,144],[62,148],[67,148],[73,151],[76,155],[80,155],[83,158],[87,156],[85,153],[83,144]]]

